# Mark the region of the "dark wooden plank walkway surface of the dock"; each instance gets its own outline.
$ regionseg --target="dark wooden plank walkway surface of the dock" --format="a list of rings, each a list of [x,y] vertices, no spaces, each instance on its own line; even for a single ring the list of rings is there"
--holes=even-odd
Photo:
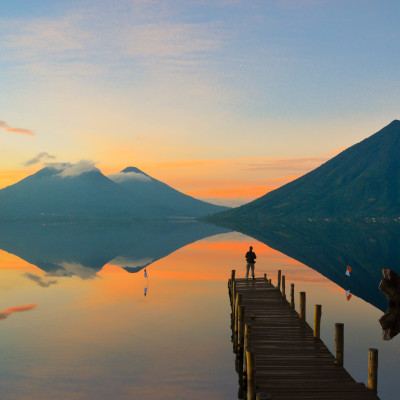
[[[343,367],[335,365],[335,357],[320,339],[314,338],[311,327],[299,318],[278,288],[264,278],[236,279],[235,282],[234,296],[241,294],[244,323],[251,324],[248,348],[255,354],[255,392],[260,398],[264,393],[273,400],[379,399]],[[232,285],[229,287],[232,293]],[[232,316],[234,319],[234,306]],[[232,329],[242,383],[241,375],[246,376],[246,372],[243,372],[243,351],[238,347],[237,334],[235,337],[234,320]],[[246,395],[243,388],[239,389],[239,396],[255,399],[255,394],[249,393]]]

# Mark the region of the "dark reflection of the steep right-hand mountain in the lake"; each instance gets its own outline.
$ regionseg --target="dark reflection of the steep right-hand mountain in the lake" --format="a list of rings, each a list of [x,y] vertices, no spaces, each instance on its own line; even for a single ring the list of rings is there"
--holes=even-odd
[[[378,286],[382,268],[399,268],[399,224],[235,221],[229,228],[300,261],[344,290],[386,310],[387,301]],[[345,274],[348,265],[350,277]]]

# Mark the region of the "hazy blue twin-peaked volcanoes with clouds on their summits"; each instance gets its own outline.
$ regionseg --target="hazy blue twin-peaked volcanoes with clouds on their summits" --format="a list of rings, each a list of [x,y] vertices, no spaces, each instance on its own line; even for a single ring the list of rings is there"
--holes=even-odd
[[[104,176],[92,164],[54,164],[0,190],[1,219],[198,217],[226,210],[137,168]]]

